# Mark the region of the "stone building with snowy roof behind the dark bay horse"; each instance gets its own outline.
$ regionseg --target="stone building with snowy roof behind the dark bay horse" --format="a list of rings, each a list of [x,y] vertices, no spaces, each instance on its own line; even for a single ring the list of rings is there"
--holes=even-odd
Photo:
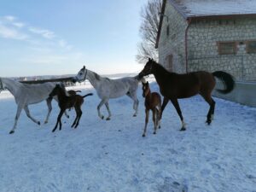
[[[227,98],[256,106],[254,0],[163,0],[155,47],[160,64],[172,72],[231,73],[237,86]],[[248,99],[241,90],[254,98],[242,101]]]

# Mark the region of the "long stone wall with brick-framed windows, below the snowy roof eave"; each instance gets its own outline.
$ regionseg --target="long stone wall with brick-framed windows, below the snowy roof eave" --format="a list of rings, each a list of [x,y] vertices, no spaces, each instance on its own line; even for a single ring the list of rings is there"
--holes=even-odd
[[[256,40],[256,20],[205,20],[189,27],[189,72],[224,70],[236,80],[256,81],[256,54],[246,41]],[[236,55],[218,55],[218,42],[236,41]]]

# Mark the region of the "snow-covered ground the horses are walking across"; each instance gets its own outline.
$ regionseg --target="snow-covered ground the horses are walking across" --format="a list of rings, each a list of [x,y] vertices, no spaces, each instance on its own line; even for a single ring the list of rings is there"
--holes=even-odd
[[[85,89],[86,87],[86,89]],[[200,96],[179,100],[187,131],[172,104],[163,114],[162,128],[153,135],[150,116],[147,137],[142,137],[144,106],[141,86],[139,113],[132,117],[127,97],[110,100],[113,117],[99,119],[100,99],[86,83],[74,87],[86,97],[78,129],[62,117],[61,131],[51,130],[59,108],[47,125],[38,126],[20,115],[14,124],[16,104],[8,91],[0,94],[0,191],[4,192],[255,192],[256,108],[218,98],[212,125],[205,124],[207,102]],[[158,91],[158,85],[151,84]],[[30,106],[44,122],[45,102]],[[106,108],[102,113],[107,115]]]

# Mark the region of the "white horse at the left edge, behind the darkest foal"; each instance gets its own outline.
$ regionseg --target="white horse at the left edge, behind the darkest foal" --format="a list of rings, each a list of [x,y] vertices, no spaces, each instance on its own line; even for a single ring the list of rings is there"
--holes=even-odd
[[[0,92],[3,89],[7,89],[10,93],[15,96],[15,102],[18,106],[17,113],[15,116],[15,125],[13,129],[9,132],[12,134],[15,132],[17,121],[20,117],[20,112],[22,109],[25,110],[26,115],[29,119],[32,119],[33,122],[40,125],[40,121],[32,118],[28,105],[35,104],[46,100],[48,106],[48,113],[44,123],[48,122],[49,113],[51,112],[51,99],[49,98],[49,93],[55,88],[55,82],[48,82],[44,84],[23,84],[19,81],[15,81],[9,78],[0,78]],[[56,98],[55,98],[56,100]],[[67,115],[67,114],[66,114]],[[68,116],[67,116],[68,117]]]

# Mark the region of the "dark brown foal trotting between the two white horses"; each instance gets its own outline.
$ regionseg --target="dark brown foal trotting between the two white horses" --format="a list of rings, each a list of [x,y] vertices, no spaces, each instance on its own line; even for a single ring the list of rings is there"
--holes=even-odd
[[[85,96],[92,96],[92,95],[93,95],[92,93],[89,93]],[[61,88],[59,84],[56,84],[55,88],[49,94],[49,97],[52,98],[53,96],[58,96],[59,107],[61,108],[61,111],[58,115],[55,128],[52,130],[52,132],[56,130],[58,124],[60,124],[59,129],[61,130],[61,116],[67,108],[75,108],[76,118],[73,121],[72,127],[74,126],[74,128],[77,128],[77,126],[79,125],[79,120],[82,116],[81,106],[84,103],[85,96],[79,96],[79,95],[67,96],[66,90]]]

